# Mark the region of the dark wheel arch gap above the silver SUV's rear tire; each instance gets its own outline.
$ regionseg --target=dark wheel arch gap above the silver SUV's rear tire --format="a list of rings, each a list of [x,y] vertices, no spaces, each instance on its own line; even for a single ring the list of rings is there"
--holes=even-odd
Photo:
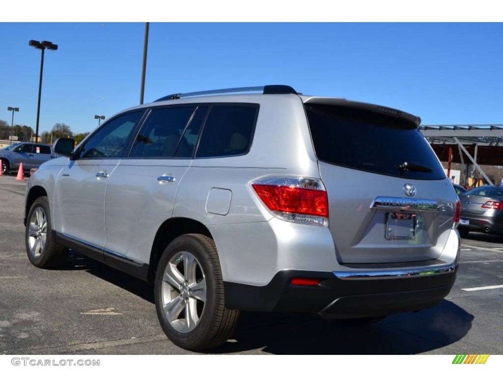
[[[175,238],[189,233],[203,234],[213,239],[209,229],[201,222],[184,217],[175,217],[162,223],[155,234],[152,250],[150,252],[150,261],[148,265],[148,281],[155,280],[155,271],[159,259],[166,246]]]

